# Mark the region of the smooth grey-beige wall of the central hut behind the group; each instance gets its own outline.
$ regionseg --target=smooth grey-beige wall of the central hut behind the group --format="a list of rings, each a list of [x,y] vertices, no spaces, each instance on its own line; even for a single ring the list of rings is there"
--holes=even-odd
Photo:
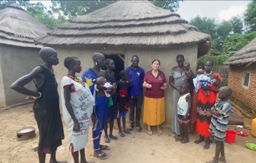
[[[140,58],[139,66],[141,66],[145,72],[151,69],[151,62],[153,59],[160,59],[161,66],[160,70],[164,72],[167,83],[169,81],[169,75],[172,67],[176,66],[176,55],[182,54],[185,57],[185,62],[191,64],[191,68],[194,72],[196,68],[197,59],[197,43],[190,44],[188,46],[177,46],[172,48],[140,48],[140,47],[127,47],[127,48],[117,48],[117,47],[86,47],[86,48],[60,48],[53,47],[58,52],[58,57],[60,59],[60,65],[54,66],[54,72],[56,80],[59,84],[59,93],[61,92],[60,83],[65,74],[67,74],[67,69],[64,67],[64,59],[68,56],[78,57],[81,60],[82,72],[77,74],[81,76],[84,70],[93,66],[92,55],[95,52],[100,52],[102,54],[124,54],[125,55],[125,68],[131,65],[131,57],[137,55]],[[170,127],[172,122],[172,110],[173,110],[173,89],[168,84],[165,90],[165,103],[166,103],[166,120],[165,124]],[[142,114],[143,118],[143,114]]]

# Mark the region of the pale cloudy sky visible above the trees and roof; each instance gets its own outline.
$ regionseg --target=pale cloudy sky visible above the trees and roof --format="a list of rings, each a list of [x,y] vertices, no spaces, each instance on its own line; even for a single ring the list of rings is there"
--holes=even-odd
[[[40,1],[48,9],[50,0]],[[250,0],[184,0],[176,12],[181,18],[190,21],[196,15],[215,18],[217,21],[229,20],[232,16],[241,16],[247,9]]]

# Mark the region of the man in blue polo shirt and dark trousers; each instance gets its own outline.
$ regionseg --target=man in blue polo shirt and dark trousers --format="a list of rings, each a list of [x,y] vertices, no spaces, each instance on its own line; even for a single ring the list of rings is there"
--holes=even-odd
[[[132,65],[126,69],[129,74],[128,81],[131,83],[131,87],[129,89],[130,126],[128,127],[128,130],[131,131],[134,127],[134,111],[136,106],[136,129],[138,132],[141,132],[142,128],[140,126],[140,119],[143,100],[142,84],[145,72],[141,67],[138,66],[138,56],[132,56],[131,63]]]

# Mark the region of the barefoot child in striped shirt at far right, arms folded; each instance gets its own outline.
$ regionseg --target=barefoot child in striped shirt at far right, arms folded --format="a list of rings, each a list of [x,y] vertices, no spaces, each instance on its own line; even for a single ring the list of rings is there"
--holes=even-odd
[[[212,136],[215,139],[216,149],[214,159],[207,163],[219,163],[219,161],[222,163],[226,163],[224,140],[226,135],[229,111],[231,108],[231,104],[228,98],[231,94],[232,89],[230,87],[221,87],[218,94],[219,100],[210,110],[213,115],[211,117],[209,132],[212,133]],[[219,158],[220,153],[221,157]]]

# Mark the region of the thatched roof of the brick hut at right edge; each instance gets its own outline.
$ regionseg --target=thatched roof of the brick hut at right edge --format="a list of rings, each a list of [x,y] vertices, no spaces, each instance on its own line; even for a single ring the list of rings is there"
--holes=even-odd
[[[256,38],[241,50],[236,52],[224,64],[226,65],[243,65],[256,63]]]

